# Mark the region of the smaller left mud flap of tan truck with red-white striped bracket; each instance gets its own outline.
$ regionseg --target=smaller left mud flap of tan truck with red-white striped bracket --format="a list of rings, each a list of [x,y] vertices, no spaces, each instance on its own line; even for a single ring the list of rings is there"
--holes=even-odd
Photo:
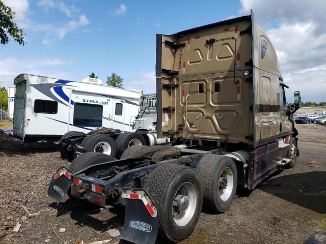
[[[47,195],[55,199],[57,203],[61,202],[70,188],[72,182],[71,174],[72,172],[69,171],[69,169],[61,167],[52,176],[50,185],[47,189]]]

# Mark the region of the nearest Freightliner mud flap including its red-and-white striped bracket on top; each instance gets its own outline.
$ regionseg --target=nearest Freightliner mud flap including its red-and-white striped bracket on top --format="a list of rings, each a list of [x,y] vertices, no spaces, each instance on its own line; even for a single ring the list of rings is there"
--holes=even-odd
[[[125,190],[125,219],[121,239],[154,244],[158,232],[157,210],[144,191]]]

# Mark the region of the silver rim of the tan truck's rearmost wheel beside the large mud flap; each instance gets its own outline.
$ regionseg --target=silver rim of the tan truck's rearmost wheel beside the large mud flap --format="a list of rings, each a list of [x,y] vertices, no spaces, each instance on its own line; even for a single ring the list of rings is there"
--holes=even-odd
[[[185,226],[194,217],[197,206],[196,188],[190,182],[182,184],[172,203],[172,215],[176,225]]]

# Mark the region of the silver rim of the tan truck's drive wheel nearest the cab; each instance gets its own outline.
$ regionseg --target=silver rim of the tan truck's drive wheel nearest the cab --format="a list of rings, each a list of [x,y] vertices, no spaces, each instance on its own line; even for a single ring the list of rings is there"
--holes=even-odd
[[[233,172],[231,168],[223,169],[219,180],[219,194],[222,201],[227,201],[233,190]]]

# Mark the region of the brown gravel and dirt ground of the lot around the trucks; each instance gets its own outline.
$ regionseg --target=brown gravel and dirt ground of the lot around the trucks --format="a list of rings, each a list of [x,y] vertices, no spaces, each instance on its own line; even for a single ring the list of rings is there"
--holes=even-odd
[[[298,125],[298,130],[301,154],[293,169],[279,170],[254,191],[239,193],[224,214],[203,210],[195,231],[180,243],[304,243],[313,232],[326,231],[326,126]],[[57,206],[47,197],[52,174],[69,165],[59,155],[51,144],[0,136],[0,243],[119,242],[105,231],[121,230],[123,208],[81,207],[67,197]],[[41,214],[24,220],[21,204]],[[17,221],[21,228],[13,233]],[[57,233],[66,231],[58,237],[52,226]]]

